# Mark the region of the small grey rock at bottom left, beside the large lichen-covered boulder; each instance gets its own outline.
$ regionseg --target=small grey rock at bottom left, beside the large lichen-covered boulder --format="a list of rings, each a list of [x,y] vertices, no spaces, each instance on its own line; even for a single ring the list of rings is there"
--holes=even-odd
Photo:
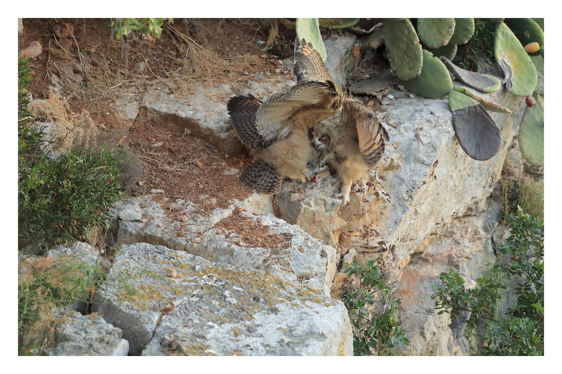
[[[49,356],[126,356],[129,342],[121,338],[121,329],[101,316],[83,316],[71,312],[55,327],[55,347],[46,348]]]

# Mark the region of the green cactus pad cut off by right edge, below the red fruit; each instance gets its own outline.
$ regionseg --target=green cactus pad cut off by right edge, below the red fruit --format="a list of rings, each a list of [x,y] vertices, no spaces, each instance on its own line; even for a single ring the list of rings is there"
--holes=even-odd
[[[519,124],[519,149],[529,164],[541,167],[545,164],[545,104],[536,96],[534,107],[525,108]]]

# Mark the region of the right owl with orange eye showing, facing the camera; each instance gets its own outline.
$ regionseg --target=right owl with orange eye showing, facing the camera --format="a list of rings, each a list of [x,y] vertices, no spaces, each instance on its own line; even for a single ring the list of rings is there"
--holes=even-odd
[[[350,202],[353,182],[368,177],[369,169],[374,168],[382,157],[388,133],[368,107],[344,99],[341,121],[334,116],[316,124],[309,138],[314,148],[321,151],[336,169],[342,181],[341,193],[337,197],[343,198],[345,206]],[[326,170],[318,177],[328,174],[329,170]]]

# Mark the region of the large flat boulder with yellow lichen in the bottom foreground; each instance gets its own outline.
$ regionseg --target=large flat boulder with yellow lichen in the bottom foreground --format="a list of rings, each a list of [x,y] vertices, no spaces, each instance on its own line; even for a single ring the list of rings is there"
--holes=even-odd
[[[261,270],[124,245],[93,311],[133,355],[350,355],[343,303]]]

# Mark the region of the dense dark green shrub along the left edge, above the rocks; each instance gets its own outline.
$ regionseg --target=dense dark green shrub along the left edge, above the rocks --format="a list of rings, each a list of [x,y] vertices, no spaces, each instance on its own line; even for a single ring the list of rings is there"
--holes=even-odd
[[[119,197],[120,153],[115,148],[72,149],[51,159],[41,149],[44,133],[31,122],[25,91],[31,77],[18,61],[18,228],[20,247],[87,239],[107,227],[107,211]]]

